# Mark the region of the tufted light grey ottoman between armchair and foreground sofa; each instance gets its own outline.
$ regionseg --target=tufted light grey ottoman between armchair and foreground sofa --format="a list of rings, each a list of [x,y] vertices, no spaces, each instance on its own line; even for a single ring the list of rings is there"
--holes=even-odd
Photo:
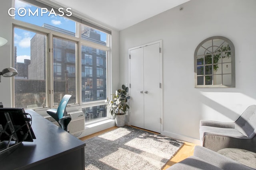
[[[256,153],[236,148],[225,148],[218,151],[219,154],[222,154],[232,160],[235,160],[245,166],[256,169]]]

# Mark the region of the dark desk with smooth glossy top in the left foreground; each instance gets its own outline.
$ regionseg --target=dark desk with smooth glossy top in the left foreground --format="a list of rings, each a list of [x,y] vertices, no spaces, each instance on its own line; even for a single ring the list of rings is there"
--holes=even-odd
[[[84,170],[83,141],[33,110],[26,113],[32,115],[36,139],[1,153],[0,170]]]

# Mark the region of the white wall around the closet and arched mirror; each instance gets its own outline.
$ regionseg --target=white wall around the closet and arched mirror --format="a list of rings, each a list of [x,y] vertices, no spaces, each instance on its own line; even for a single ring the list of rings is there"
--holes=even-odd
[[[234,121],[256,104],[256,1],[190,0],[181,6],[120,31],[120,63],[128,63],[129,48],[163,40],[162,134],[198,143],[200,119]],[[194,88],[194,50],[216,35],[234,43],[236,88]],[[120,84],[129,82],[128,64],[122,66]]]

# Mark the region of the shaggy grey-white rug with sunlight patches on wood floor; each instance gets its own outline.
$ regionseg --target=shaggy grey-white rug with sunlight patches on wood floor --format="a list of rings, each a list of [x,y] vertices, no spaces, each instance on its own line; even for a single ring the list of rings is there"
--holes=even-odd
[[[184,144],[129,126],[84,142],[86,170],[160,170]]]

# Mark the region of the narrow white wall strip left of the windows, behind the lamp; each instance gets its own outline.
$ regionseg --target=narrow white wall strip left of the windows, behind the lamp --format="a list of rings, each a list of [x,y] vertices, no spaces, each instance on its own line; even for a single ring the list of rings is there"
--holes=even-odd
[[[6,45],[0,47],[0,71],[4,68],[12,66],[11,64],[11,46],[12,46],[12,23],[11,17],[8,15],[7,11],[11,7],[12,1],[1,2],[0,5],[0,37],[8,40]],[[2,77],[2,82],[0,82],[0,102],[3,103],[4,107],[11,107],[11,79]]]

